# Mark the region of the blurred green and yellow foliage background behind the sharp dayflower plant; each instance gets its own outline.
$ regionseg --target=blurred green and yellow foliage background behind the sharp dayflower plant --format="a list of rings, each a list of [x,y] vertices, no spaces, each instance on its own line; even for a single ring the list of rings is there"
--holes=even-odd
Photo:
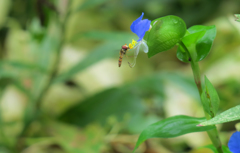
[[[130,153],[149,124],[174,115],[202,117],[189,64],[176,47],[134,68],[119,50],[137,36],[142,12],[187,24],[216,25],[200,62],[216,87],[219,112],[239,104],[239,0],[0,0],[0,153]],[[219,125],[227,145],[236,130]],[[150,139],[137,153],[211,153],[206,133]]]

